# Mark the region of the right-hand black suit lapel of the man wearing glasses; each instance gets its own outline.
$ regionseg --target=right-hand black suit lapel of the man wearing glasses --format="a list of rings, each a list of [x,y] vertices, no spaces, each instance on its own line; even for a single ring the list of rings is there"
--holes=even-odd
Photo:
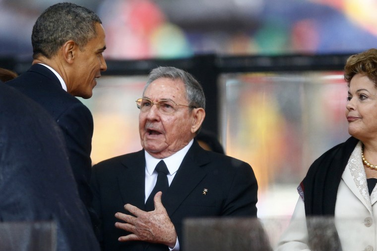
[[[209,159],[205,151],[194,141],[183,159],[169,190],[166,192],[166,196],[163,196],[163,204],[170,217],[206,176],[207,173],[203,165],[208,162]]]

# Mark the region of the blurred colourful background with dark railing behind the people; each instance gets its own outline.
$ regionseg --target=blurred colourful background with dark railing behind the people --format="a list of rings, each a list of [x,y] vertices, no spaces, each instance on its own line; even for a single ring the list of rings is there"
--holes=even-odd
[[[32,61],[31,30],[55,0],[0,0],[0,67]],[[203,85],[226,154],[251,164],[258,216],[290,217],[296,187],[345,141],[342,69],[377,46],[375,0],[74,0],[106,31],[108,71],[89,100],[93,164],[141,149],[135,100],[150,69],[183,68]]]

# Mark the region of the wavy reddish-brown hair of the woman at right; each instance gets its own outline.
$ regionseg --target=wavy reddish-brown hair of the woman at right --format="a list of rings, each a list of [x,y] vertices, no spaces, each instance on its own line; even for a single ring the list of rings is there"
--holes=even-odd
[[[347,59],[344,66],[344,80],[348,86],[358,73],[367,76],[377,88],[377,49],[369,49]]]

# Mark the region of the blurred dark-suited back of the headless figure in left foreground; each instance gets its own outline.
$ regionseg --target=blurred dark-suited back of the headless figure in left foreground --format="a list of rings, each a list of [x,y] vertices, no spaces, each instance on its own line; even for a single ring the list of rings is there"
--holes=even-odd
[[[38,103],[0,82],[0,223],[16,227],[41,221],[52,222],[51,231],[44,232],[49,238],[38,239],[26,227],[2,227],[0,250],[100,250],[61,129]]]

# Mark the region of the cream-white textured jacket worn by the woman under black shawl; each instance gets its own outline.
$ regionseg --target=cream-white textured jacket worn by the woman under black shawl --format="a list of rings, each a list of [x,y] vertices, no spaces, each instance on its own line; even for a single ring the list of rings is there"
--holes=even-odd
[[[377,186],[369,196],[361,147],[359,142],[348,160],[335,203],[335,226],[343,251],[377,251]],[[305,206],[299,197],[275,250],[309,251],[307,243]]]

